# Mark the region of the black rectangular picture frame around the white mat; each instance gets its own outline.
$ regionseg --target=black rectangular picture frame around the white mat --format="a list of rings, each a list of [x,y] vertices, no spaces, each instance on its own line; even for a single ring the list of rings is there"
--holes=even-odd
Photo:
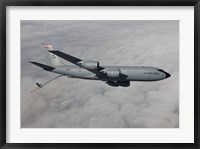
[[[7,143],[6,142],[6,7],[7,6],[194,6],[194,143]],[[199,138],[199,0],[3,0],[0,1],[0,147],[1,148],[200,148]],[[192,50],[192,49],[191,49]],[[193,99],[191,99],[193,100]],[[173,137],[173,136],[172,136]]]

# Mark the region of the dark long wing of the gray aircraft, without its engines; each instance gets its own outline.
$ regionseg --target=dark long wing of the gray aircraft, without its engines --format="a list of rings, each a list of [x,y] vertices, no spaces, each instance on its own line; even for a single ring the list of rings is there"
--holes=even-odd
[[[69,62],[71,62],[72,64],[75,64],[75,65],[77,65],[77,66],[79,66],[81,68],[84,68],[84,67],[80,66],[80,64],[79,64],[79,62],[83,61],[82,59],[76,58],[74,56],[71,56],[69,54],[63,53],[63,52],[58,51],[58,50],[50,50],[49,52],[51,52],[51,53],[53,53],[53,54],[65,59],[65,60],[67,60]],[[103,70],[104,68],[99,66],[99,70],[90,70],[90,69],[87,69],[87,68],[84,68],[84,69],[86,69],[88,71],[91,71],[91,72],[93,72],[95,74],[100,74],[100,73],[103,74],[103,72],[100,72],[100,71]]]

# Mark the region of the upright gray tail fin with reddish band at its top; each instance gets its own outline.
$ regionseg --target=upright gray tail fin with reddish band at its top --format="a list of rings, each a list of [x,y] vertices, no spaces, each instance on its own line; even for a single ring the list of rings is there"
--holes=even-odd
[[[45,49],[44,52],[45,52],[47,65],[52,66],[52,67],[64,65],[61,59],[57,55],[49,52],[49,50],[54,50],[51,44],[43,43],[42,45]]]

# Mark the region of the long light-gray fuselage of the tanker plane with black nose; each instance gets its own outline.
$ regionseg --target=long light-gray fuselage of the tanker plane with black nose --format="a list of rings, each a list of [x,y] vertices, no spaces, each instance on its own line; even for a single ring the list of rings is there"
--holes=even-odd
[[[158,81],[170,77],[167,72],[155,68],[145,66],[102,66],[102,70],[98,76],[91,71],[78,66],[60,66],[56,67],[52,72],[63,74],[71,78],[81,78],[89,80],[104,81]]]

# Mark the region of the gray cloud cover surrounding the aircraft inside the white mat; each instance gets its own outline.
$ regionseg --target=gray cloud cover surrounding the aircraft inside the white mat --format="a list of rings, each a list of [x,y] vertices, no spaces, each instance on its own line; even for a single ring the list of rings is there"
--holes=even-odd
[[[61,77],[45,64],[42,43],[100,65],[153,66],[171,77],[111,87],[103,81]],[[63,60],[66,65],[72,65]],[[178,128],[179,21],[21,21],[22,128]]]

